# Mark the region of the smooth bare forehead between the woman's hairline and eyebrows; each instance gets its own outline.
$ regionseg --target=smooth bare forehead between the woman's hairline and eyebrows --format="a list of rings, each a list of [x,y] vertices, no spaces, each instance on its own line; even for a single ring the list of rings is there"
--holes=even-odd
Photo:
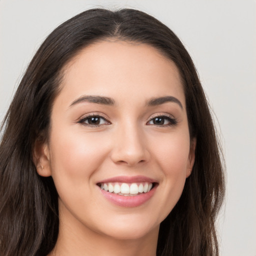
[[[145,43],[99,41],[76,54],[63,68],[60,94],[71,98],[97,94],[129,98],[176,96],[184,104],[183,86],[173,61]]]

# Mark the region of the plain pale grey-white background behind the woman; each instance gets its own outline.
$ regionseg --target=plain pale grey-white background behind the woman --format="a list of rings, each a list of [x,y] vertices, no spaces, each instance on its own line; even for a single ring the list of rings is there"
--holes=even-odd
[[[226,158],[221,255],[256,256],[255,0],[0,0],[0,120],[49,32],[100,6],[146,11],[183,41],[214,109]]]

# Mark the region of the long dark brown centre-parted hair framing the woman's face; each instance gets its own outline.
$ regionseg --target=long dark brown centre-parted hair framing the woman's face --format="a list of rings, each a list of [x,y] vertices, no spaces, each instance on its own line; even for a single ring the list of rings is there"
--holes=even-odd
[[[157,48],[179,69],[195,162],[182,195],[160,224],[157,255],[218,255],[214,226],[224,194],[223,164],[215,128],[196,69],[177,36],[134,9],[89,9],[59,25],[35,53],[1,127],[0,255],[46,255],[58,235],[57,192],[36,172],[32,150],[47,139],[51,106],[63,66],[96,40],[116,38]]]

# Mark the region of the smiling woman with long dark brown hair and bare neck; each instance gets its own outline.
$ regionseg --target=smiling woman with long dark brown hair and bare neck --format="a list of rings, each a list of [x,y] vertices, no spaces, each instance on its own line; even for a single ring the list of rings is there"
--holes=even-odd
[[[213,122],[155,18],[90,9],[61,24],[2,127],[1,255],[218,255]]]

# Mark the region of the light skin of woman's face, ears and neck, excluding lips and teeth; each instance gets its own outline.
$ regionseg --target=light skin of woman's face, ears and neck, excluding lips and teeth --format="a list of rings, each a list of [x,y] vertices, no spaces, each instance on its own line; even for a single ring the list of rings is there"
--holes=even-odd
[[[155,255],[194,162],[178,69],[152,46],[100,41],[66,64],[60,87],[49,138],[35,147],[37,171],[59,195],[49,255]],[[98,185],[137,175],[155,181],[137,206],[109,201]]]

